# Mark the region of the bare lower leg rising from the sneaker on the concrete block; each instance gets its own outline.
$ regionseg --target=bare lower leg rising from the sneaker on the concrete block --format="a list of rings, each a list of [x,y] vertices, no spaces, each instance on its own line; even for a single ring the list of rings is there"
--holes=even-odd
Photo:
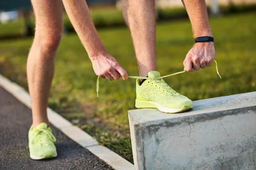
[[[131,31],[140,76],[157,71],[154,0],[122,0],[125,22]]]

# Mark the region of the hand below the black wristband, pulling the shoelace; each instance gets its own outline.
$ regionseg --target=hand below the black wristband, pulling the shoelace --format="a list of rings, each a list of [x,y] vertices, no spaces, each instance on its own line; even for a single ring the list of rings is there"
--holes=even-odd
[[[213,42],[197,42],[189,50],[183,62],[184,71],[198,71],[210,66],[215,57]]]

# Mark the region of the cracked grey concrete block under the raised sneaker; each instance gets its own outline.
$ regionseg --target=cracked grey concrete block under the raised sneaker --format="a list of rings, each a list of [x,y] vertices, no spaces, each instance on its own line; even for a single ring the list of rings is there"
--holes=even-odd
[[[186,113],[128,116],[137,170],[256,169],[256,92],[198,100]]]

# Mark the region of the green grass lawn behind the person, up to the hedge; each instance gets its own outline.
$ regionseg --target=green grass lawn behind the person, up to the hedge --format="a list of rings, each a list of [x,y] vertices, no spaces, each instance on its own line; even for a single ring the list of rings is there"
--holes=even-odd
[[[165,81],[192,100],[256,90],[256,12],[211,18],[215,64]],[[130,76],[138,75],[127,28],[101,29],[108,52]],[[193,45],[189,20],[157,24],[157,67],[162,75],[183,71]],[[27,89],[26,58],[32,38],[0,41],[0,72]],[[135,109],[135,80],[100,79],[99,98],[90,60],[76,34],[64,35],[58,49],[49,107],[93,135],[100,144],[132,162],[127,111]]]

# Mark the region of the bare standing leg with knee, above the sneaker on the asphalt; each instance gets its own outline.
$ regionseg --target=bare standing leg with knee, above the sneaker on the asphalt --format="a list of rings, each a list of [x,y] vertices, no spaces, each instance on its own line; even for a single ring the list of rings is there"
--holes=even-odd
[[[35,39],[27,61],[33,127],[47,119],[47,103],[54,73],[54,58],[61,39],[61,0],[31,0],[35,12]]]

